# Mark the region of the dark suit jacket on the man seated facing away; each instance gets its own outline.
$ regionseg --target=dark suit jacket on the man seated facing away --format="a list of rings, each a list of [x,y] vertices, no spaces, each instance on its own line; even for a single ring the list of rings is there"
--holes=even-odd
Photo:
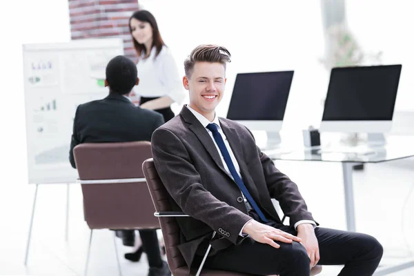
[[[152,132],[162,124],[162,115],[135,106],[122,95],[110,94],[105,99],[83,103],[77,107],[73,122],[70,164],[76,168],[73,148],[79,144],[151,141]]]

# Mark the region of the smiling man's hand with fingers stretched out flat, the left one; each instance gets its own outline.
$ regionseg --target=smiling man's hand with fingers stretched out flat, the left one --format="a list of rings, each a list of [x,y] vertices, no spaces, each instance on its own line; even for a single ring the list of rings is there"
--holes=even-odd
[[[274,248],[279,248],[279,244],[275,243],[278,242],[285,242],[286,244],[290,244],[292,241],[301,242],[302,239],[296,237],[294,235],[290,235],[282,230],[277,228],[273,228],[266,224],[261,224],[254,219],[248,221],[248,223],[243,228],[243,233],[250,235],[252,239],[256,242],[260,242],[262,244],[269,244]]]

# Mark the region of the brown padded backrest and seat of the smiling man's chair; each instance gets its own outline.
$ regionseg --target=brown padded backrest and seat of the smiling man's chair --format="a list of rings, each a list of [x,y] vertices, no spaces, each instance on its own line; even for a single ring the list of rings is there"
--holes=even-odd
[[[144,171],[148,189],[150,190],[152,201],[157,212],[171,211],[172,208],[168,192],[159,178],[152,158],[144,161],[142,170]],[[162,235],[164,236],[168,266],[170,266],[172,274],[175,276],[187,276],[189,273],[188,266],[178,249],[179,226],[177,221],[174,217],[159,217],[159,224],[161,225]],[[190,275],[195,275],[196,271],[196,269],[192,269]],[[247,276],[247,274],[203,269],[201,270],[201,276]]]

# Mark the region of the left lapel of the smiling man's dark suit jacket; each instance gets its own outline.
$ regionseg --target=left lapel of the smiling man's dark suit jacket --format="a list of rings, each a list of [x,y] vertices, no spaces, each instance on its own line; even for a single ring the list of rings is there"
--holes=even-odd
[[[191,131],[193,131],[193,133],[197,136],[197,138],[200,140],[204,148],[206,148],[207,152],[213,158],[217,166],[219,166],[219,168],[223,170],[227,175],[227,171],[224,168],[223,163],[221,162],[221,157],[219,155],[219,152],[217,151],[217,148],[213,142],[213,139],[211,139],[206,128],[204,128],[204,126],[201,125],[200,121],[197,120],[197,118],[193,115],[193,113],[191,113],[190,110],[188,110],[186,106],[184,106],[181,109],[181,112],[179,114],[184,119],[184,121],[186,121],[186,123],[190,124],[188,128]]]

